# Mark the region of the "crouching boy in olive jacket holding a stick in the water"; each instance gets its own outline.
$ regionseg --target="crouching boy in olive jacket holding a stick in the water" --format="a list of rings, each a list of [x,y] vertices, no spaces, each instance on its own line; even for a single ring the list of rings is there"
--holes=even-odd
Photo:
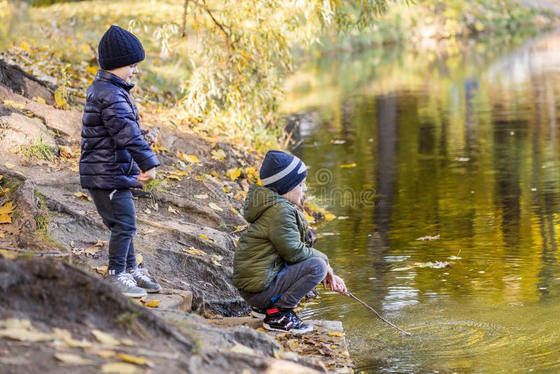
[[[307,220],[297,209],[307,191],[302,160],[269,151],[259,174],[263,186],[251,185],[245,200],[250,225],[235,250],[233,284],[265,328],[307,333],[313,327],[297,317],[297,303],[321,282],[343,294],[346,286],[327,256],[305,245]]]

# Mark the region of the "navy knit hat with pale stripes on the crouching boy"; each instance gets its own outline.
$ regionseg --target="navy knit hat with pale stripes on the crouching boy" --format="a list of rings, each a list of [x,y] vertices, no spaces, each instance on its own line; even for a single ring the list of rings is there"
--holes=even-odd
[[[300,184],[307,176],[307,167],[302,160],[282,151],[268,151],[260,167],[262,186],[280,195]]]

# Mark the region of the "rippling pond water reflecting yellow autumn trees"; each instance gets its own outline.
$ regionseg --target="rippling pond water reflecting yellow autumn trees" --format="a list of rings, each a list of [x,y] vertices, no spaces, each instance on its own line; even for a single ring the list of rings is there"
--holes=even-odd
[[[560,34],[456,48],[295,77],[294,153],[337,216],[316,248],[413,336],[338,294],[300,314],[342,320],[368,373],[558,372]]]

